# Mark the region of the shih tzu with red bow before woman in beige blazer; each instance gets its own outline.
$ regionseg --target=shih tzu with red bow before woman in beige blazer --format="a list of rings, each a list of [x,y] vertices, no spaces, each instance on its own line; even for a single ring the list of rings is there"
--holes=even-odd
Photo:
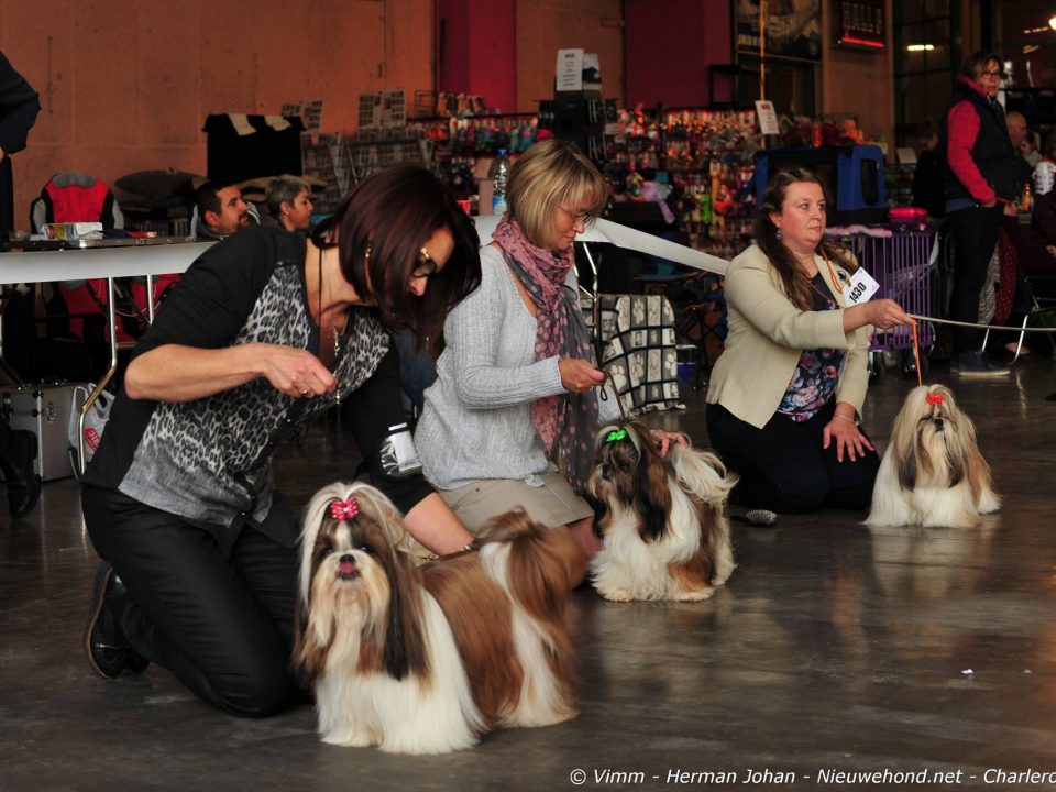
[[[894,417],[866,525],[967,528],[1000,506],[971,418],[949,388],[913,388]]]

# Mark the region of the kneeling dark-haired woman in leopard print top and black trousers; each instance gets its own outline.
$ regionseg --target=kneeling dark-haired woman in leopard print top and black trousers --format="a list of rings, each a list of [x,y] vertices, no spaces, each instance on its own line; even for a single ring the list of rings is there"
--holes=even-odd
[[[407,440],[389,330],[436,342],[480,283],[477,245],[436,176],[397,166],[311,239],[248,228],[190,266],[136,346],[84,476],[106,559],[85,630],[99,674],[153,661],[237,715],[294,701],[297,519],[271,461],[338,399],[410,532],[439,553],[472,540],[420,473],[386,460]]]

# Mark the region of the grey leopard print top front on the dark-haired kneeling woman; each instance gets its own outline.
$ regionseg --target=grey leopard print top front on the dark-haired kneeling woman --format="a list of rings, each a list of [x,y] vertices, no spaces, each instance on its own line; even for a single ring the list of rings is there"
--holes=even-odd
[[[263,342],[314,349],[302,261],[301,255],[272,264],[271,278],[230,345]],[[372,310],[351,311],[333,366],[342,397],[370,378],[389,343],[387,330]],[[337,394],[328,394],[311,399],[299,420],[328,409],[336,398]],[[195,402],[154,403],[118,488],[195,522],[227,526],[240,515],[263,521],[272,505],[274,435],[295,404],[265,378]],[[258,459],[262,464],[254,468]],[[255,499],[249,490],[256,491]]]

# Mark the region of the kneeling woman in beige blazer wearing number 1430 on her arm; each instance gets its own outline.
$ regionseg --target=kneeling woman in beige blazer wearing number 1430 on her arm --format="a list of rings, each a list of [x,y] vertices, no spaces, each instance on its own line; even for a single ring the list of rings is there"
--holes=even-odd
[[[862,508],[880,464],[857,420],[870,326],[912,319],[889,299],[846,306],[857,263],[823,244],[825,194],[811,172],[774,176],[754,230],[726,274],[729,336],[707,389],[712,444],[741,476],[734,503]]]

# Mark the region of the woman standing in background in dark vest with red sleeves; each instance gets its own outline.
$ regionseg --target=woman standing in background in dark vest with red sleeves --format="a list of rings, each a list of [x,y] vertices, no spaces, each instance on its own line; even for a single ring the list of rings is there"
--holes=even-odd
[[[997,100],[1001,62],[977,52],[965,62],[954,84],[946,114],[946,221],[954,237],[954,292],[949,318],[979,321],[990,256],[998,242],[1001,216],[1015,211],[1020,196],[1015,148]],[[981,331],[954,328],[950,371],[968,377],[1008,376],[1009,370],[980,352]]]

